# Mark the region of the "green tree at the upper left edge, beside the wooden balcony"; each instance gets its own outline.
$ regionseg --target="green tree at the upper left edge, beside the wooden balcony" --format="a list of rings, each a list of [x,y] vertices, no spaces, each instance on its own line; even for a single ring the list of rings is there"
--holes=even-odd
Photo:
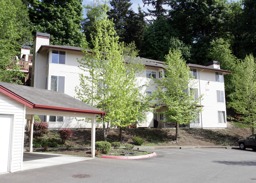
[[[23,78],[24,73],[12,58],[19,54],[17,50],[20,48],[20,22],[17,11],[19,10],[13,1],[0,1],[0,81],[21,84],[19,78]],[[10,65],[12,67],[7,69]]]

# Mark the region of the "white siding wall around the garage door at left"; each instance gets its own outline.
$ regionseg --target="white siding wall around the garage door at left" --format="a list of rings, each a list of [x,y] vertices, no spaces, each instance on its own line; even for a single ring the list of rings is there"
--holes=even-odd
[[[0,93],[0,114],[13,115],[10,172],[22,169],[25,110],[23,104]]]

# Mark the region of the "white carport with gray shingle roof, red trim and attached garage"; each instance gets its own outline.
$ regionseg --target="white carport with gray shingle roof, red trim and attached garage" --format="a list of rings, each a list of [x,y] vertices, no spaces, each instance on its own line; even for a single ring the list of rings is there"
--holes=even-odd
[[[24,126],[30,120],[32,152],[33,116],[91,118],[91,156],[95,156],[95,121],[104,111],[62,92],[0,82],[0,173],[22,170]]]

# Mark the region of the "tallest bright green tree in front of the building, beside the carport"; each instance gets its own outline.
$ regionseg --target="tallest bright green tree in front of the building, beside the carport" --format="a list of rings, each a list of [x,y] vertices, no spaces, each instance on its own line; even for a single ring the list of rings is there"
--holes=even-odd
[[[139,119],[136,115],[141,100],[137,95],[139,89],[135,86],[133,69],[126,72],[123,44],[118,42],[114,24],[108,19],[107,6],[104,5],[103,9],[95,21],[92,53],[84,51],[84,58],[78,61],[80,68],[89,75],[80,74],[80,86],[76,87],[76,92],[80,100],[106,112],[101,119],[106,141],[111,125],[128,126]]]

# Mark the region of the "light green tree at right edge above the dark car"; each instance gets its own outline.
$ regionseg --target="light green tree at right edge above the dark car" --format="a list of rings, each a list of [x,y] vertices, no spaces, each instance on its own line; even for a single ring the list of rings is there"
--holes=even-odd
[[[230,95],[228,107],[242,115],[239,125],[250,127],[252,134],[256,128],[256,63],[252,55],[237,64],[233,82],[236,88]]]

